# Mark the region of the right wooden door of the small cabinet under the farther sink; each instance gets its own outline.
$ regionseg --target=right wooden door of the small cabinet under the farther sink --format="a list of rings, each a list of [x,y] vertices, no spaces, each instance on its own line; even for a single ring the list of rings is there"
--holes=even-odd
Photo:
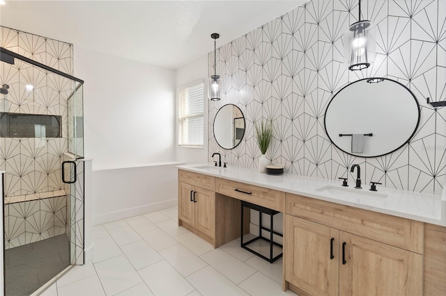
[[[195,228],[214,238],[215,231],[215,193],[195,187]]]

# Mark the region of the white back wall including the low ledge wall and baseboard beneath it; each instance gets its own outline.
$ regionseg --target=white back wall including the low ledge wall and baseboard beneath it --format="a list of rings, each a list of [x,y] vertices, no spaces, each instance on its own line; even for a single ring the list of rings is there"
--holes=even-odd
[[[175,70],[75,47],[75,76],[85,81],[93,224],[176,205],[174,165],[148,165],[175,160]]]

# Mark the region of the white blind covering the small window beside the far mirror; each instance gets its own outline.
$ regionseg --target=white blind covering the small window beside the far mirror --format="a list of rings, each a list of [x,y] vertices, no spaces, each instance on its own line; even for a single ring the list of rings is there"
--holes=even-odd
[[[203,147],[204,83],[178,90],[178,145]]]

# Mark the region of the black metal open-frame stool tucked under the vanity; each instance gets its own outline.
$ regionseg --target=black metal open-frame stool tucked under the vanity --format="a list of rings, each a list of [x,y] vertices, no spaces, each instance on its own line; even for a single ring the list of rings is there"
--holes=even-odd
[[[240,236],[240,247],[243,247],[243,249],[247,249],[249,252],[256,254],[257,256],[265,259],[266,261],[268,261],[269,263],[273,263],[274,261],[276,261],[278,258],[282,257],[283,252],[280,253],[279,255],[275,256],[274,258],[272,257],[272,247],[273,245],[277,245],[279,247],[282,247],[282,245],[278,244],[277,242],[272,240],[272,235],[275,234],[277,236],[282,236],[282,233],[278,233],[276,231],[273,231],[273,222],[272,222],[272,218],[274,217],[274,215],[276,215],[277,213],[280,213],[279,211],[275,211],[272,210],[270,208],[265,208],[263,206],[258,206],[256,204],[251,204],[250,202],[244,202],[241,201],[242,204],[242,231],[241,231],[241,236]],[[259,236],[257,236],[256,238],[253,238],[252,240],[248,240],[247,242],[243,242],[243,208],[250,208],[254,211],[258,211],[259,212]],[[270,215],[270,229],[263,227],[262,225],[262,213],[265,213],[267,215]],[[263,238],[262,236],[262,230],[266,230],[266,231],[270,231],[270,239],[268,240],[268,238]],[[247,245],[249,245],[251,242],[254,242],[256,240],[266,240],[267,242],[270,242],[270,258],[263,256],[262,254],[259,254],[258,252],[254,251],[253,249],[249,249],[249,247],[247,247]]]

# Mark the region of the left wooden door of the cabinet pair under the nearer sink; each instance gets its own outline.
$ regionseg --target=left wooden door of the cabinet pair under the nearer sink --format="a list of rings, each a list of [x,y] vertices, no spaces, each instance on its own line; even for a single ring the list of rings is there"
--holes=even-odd
[[[338,295],[339,231],[286,215],[285,233],[285,280],[299,295]]]

